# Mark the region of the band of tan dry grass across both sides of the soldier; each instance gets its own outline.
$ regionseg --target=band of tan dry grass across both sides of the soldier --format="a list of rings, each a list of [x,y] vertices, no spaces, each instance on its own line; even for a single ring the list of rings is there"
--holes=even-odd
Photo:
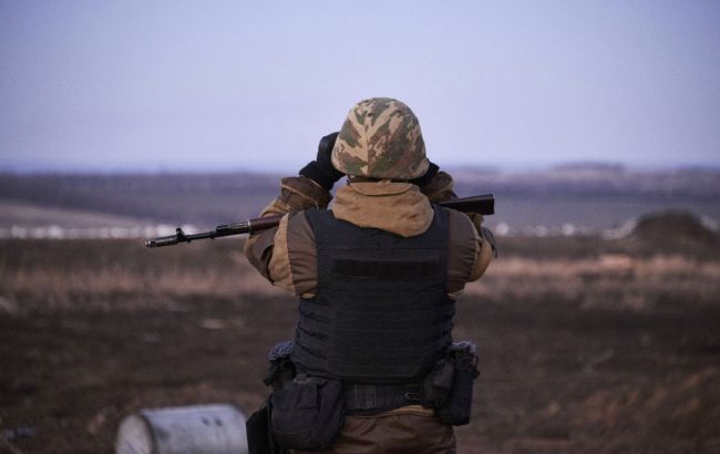
[[[248,265],[237,239],[156,250],[136,240],[0,244],[0,311],[136,310],[257,295],[285,293]],[[546,259],[514,255],[493,262],[465,295],[494,302],[556,300],[636,311],[657,309],[678,296],[712,305],[720,295],[720,261],[618,252]]]

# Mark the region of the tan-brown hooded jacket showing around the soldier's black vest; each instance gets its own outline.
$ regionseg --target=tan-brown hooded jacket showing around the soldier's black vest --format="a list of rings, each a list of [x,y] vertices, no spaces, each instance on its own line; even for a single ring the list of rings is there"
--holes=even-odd
[[[430,202],[454,198],[453,180],[439,172],[422,189],[410,183],[390,180],[352,183],[336,194],[332,213],[360,227],[372,227],[404,237],[424,233],[432,223]],[[282,178],[280,195],[261,216],[285,214],[278,227],[250,236],[245,255],[272,285],[302,297],[317,288],[315,235],[304,209],[327,208],[332,196],[304,176]],[[449,210],[450,243],[448,293],[456,299],[466,282],[480,278],[493,257],[494,245],[483,235],[482,216]]]

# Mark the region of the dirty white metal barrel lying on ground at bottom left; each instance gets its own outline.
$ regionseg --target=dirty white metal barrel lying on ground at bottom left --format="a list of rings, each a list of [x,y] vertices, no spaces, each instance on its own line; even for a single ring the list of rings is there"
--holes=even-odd
[[[120,424],[116,454],[247,454],[245,415],[234,405],[141,410]]]

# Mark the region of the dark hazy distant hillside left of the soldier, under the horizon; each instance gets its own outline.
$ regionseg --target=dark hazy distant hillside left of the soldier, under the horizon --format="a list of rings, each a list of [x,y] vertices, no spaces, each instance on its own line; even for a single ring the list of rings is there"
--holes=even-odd
[[[257,216],[279,177],[261,174],[0,174],[0,197],[56,208],[205,225]]]

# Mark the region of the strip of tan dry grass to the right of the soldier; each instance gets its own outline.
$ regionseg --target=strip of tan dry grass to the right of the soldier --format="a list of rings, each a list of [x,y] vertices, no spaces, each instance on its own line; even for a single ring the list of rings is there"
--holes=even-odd
[[[556,300],[583,308],[651,310],[676,301],[714,305],[720,295],[720,261],[683,256],[637,258],[601,254],[590,258],[503,258],[470,283],[465,295],[491,301]]]

